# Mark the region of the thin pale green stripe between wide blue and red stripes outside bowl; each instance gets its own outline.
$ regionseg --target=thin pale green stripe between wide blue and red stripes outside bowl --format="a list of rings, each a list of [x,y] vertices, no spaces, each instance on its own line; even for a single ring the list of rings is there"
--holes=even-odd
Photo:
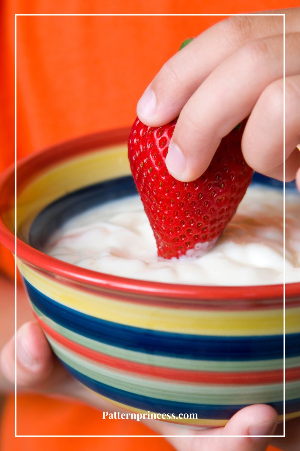
[[[41,313],[38,308],[31,304],[35,313],[54,331],[58,332],[60,335],[68,338],[79,345],[85,346],[86,348],[92,349],[94,351],[101,352],[102,354],[110,355],[118,359],[129,360],[130,362],[137,362],[147,365],[155,365],[165,368],[176,368],[176,369],[187,369],[194,371],[215,371],[215,372],[248,372],[248,371],[268,371],[283,369],[282,359],[273,360],[254,360],[246,362],[214,362],[210,360],[192,360],[192,359],[178,359],[175,357],[164,357],[160,355],[146,354],[142,352],[136,352],[131,350],[126,350],[123,348],[118,348],[116,346],[106,345],[99,341],[92,340],[85,336],[79,335],[76,332],[70,331],[69,329],[60,326],[52,319],[48,318]],[[297,357],[289,357],[286,359],[286,368],[295,368],[299,364],[299,359]]]

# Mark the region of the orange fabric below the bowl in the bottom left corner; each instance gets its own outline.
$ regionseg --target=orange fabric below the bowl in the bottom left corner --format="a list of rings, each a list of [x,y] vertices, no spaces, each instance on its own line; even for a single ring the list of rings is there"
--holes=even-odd
[[[30,418],[28,418],[28,414],[22,414],[23,412],[28,412],[29,404],[34,405],[34,409],[30,410]],[[18,395],[17,405],[18,435],[157,435],[145,426],[145,424],[138,423],[134,420],[103,420],[102,412],[77,402],[62,402],[57,399],[30,394]],[[41,439],[36,438],[18,438],[19,447],[11,447],[11,435],[14,428],[13,422],[10,421],[14,416],[13,396],[10,396],[7,399],[5,412],[6,415],[3,420],[2,430],[0,431],[0,450],[40,449],[36,446],[39,446],[38,440],[40,441]],[[77,438],[76,440],[73,439],[72,450],[90,451],[98,449],[96,445],[98,444],[99,446],[99,440],[101,440],[101,448],[111,449],[109,444],[111,443],[112,438],[103,437],[99,439],[96,437],[89,437],[82,439]],[[122,437],[116,437],[113,438],[113,440],[116,441],[114,443],[119,443],[120,451],[138,449],[137,446],[134,445],[134,438],[124,439]],[[139,437],[139,447],[147,450],[149,447],[147,445],[148,440],[150,440],[150,437]],[[174,449],[164,438],[158,437],[153,440],[158,441],[156,442],[158,449],[164,451],[172,451]],[[71,439],[65,438],[59,441],[58,438],[53,438],[51,440],[44,439],[43,442],[45,442],[45,445],[43,444],[44,451],[53,449],[63,450],[69,449],[66,442],[71,443]],[[56,442],[58,442],[59,446],[56,445]],[[63,443],[65,444],[63,445]]]

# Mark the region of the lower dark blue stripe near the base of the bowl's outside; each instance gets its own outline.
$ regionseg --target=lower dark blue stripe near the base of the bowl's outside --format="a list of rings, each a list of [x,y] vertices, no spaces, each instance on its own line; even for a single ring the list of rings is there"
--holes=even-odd
[[[237,405],[212,405],[212,404],[196,404],[196,403],[185,403],[179,401],[169,401],[164,399],[151,398],[149,396],[137,395],[136,393],[131,393],[130,391],[121,390],[119,388],[110,387],[109,385],[103,384],[102,382],[95,381],[88,376],[85,376],[69,365],[62,364],[67,368],[67,371],[72,374],[78,381],[82,382],[86,387],[91,388],[100,395],[106,396],[107,398],[120,402],[122,404],[135,407],[141,410],[150,410],[157,413],[174,413],[178,415],[179,413],[197,413],[198,418],[206,419],[229,419],[238,410],[246,407],[249,404],[237,404]],[[273,403],[268,403],[271,405],[278,413],[278,415],[283,414],[283,401],[277,401]],[[299,410],[299,399],[286,401],[286,413],[298,412]]]

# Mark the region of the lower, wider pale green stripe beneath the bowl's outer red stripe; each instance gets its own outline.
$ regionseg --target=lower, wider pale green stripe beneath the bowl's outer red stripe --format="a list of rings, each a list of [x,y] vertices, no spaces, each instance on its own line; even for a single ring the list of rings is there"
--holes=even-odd
[[[120,370],[112,370],[101,364],[82,358],[48,337],[55,354],[76,371],[96,381],[121,390],[170,401],[188,403],[235,405],[281,401],[283,384],[264,385],[208,385],[187,382],[165,382],[145,376],[137,376]],[[298,382],[286,384],[286,399],[294,399]]]

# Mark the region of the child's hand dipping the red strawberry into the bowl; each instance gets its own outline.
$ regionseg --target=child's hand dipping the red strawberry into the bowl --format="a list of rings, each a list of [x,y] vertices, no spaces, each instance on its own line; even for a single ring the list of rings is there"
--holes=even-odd
[[[269,11],[268,11],[269,12]],[[286,14],[286,180],[299,168],[299,9]],[[250,114],[242,140],[254,170],[283,179],[283,17],[233,16],[164,64],[137,106],[160,126],[179,115],[166,157],[188,182],[208,167],[221,138]]]

